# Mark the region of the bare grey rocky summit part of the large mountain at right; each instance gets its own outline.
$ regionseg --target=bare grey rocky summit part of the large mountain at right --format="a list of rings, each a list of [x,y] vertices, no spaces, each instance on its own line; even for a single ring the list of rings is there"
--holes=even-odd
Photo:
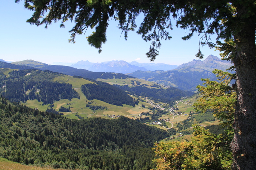
[[[176,70],[180,70],[181,68],[193,67],[193,68],[201,68],[208,71],[212,71],[215,68],[222,71],[226,71],[226,69],[231,66],[233,66],[231,62],[226,60],[221,60],[214,55],[209,55],[204,61],[193,60],[191,62],[181,64],[176,68]]]

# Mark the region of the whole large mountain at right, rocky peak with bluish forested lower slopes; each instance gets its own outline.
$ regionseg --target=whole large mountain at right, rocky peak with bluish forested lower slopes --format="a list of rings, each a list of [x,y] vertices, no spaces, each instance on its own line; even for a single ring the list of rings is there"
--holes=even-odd
[[[202,78],[217,80],[216,75],[212,73],[214,68],[225,71],[232,65],[217,56],[210,55],[204,61],[193,60],[189,63],[181,64],[175,70],[136,71],[127,75],[166,86],[177,87],[181,90],[195,91],[196,86],[203,83],[201,81]]]

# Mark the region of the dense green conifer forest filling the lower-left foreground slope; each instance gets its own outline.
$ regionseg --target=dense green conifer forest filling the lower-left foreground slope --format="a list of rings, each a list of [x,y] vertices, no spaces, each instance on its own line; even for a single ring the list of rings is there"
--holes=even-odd
[[[0,98],[0,157],[55,168],[148,170],[167,132],[121,116],[68,119]]]

